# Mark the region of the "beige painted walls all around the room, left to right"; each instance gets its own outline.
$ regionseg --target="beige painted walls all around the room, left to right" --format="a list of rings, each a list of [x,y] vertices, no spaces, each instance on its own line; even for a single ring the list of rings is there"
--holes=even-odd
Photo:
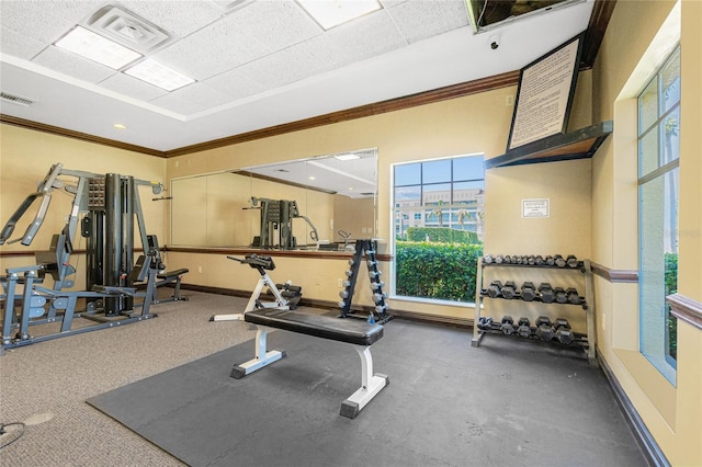
[[[611,270],[636,270],[636,166],[635,155],[634,160],[631,155],[632,148],[635,152],[631,140],[632,125],[635,128],[631,117],[635,109],[626,99],[620,99],[620,94],[672,7],[672,2],[665,1],[618,2],[595,69],[581,73],[571,115],[571,127],[614,119],[614,134],[595,158],[488,171],[486,251],[574,253]],[[702,132],[699,130],[702,91],[687,83],[702,82],[701,10],[702,2],[682,2],[680,230],[683,235],[679,288],[681,294],[698,301],[702,300],[702,189],[699,183],[702,180]],[[506,105],[506,96],[513,96],[514,91],[513,87],[506,88],[168,160],[0,125],[0,218],[7,219],[36,181],[58,161],[71,169],[98,173],[116,171],[168,183],[173,178],[377,147],[377,231],[378,237],[387,240],[392,232],[392,164],[468,153],[483,152],[487,158],[501,155],[512,113],[512,107]],[[532,197],[551,200],[551,217],[520,217],[521,200]],[[149,229],[162,238],[161,244],[170,243],[169,205],[151,203],[146,196],[143,202]],[[48,244],[53,230],[63,226],[60,214],[47,223],[52,228],[45,226],[37,243]],[[3,246],[2,251],[22,248]],[[383,243],[383,250],[387,251],[387,242]],[[0,261],[4,269],[19,260]],[[304,295],[310,298],[338,299],[338,280],[348,267],[346,260],[281,257],[275,262],[278,267],[272,275],[276,282],[292,280],[303,285]],[[258,280],[254,273],[227,260],[224,253],[169,252],[166,263],[169,269],[191,269],[185,276],[185,282],[191,284],[251,289]],[[389,273],[386,263],[381,269],[386,275]],[[363,292],[355,301],[372,304],[369,289],[361,287]],[[699,442],[702,437],[702,333],[690,324],[679,323],[678,381],[677,387],[671,386],[652,371],[637,352],[636,291],[635,284],[596,277],[598,351],[668,459],[680,466],[702,465],[702,443]],[[473,309],[466,306],[392,300],[390,307],[473,318]],[[499,316],[502,310],[495,312]]]

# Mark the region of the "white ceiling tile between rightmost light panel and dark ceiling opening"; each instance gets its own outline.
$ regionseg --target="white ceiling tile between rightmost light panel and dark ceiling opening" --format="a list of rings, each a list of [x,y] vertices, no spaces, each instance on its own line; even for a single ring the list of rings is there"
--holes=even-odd
[[[469,24],[465,0],[409,0],[387,12],[410,43]]]

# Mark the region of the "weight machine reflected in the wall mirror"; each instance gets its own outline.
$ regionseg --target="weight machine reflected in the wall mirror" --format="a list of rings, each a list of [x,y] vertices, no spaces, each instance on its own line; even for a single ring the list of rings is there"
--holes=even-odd
[[[296,218],[305,219],[312,228],[310,238],[314,241],[319,240],[317,229],[306,216],[299,214],[295,201],[251,197],[250,209],[261,209],[261,234],[253,237],[252,247],[282,250],[296,248],[297,240],[293,237],[293,219]]]

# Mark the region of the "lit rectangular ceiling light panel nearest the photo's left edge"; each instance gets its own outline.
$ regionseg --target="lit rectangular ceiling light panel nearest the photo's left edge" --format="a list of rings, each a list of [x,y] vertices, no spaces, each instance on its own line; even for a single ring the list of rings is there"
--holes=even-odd
[[[141,54],[82,26],[76,26],[54,45],[115,70],[141,57]]]

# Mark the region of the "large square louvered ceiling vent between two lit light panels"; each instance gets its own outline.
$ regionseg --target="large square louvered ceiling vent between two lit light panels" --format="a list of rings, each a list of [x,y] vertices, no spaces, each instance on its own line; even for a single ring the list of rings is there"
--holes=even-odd
[[[141,54],[152,53],[171,41],[170,34],[161,27],[112,4],[98,10],[83,24]]]

